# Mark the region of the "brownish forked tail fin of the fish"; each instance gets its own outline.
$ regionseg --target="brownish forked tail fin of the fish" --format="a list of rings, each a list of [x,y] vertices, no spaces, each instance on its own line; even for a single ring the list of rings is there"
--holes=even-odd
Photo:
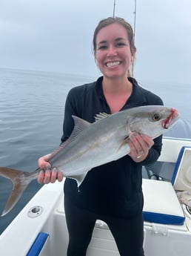
[[[7,179],[10,179],[13,183],[13,189],[4,207],[4,211],[1,214],[1,216],[4,216],[13,208],[13,206],[16,205],[23,191],[25,190],[25,188],[27,188],[29,183],[34,178],[33,173],[30,174],[24,171],[19,171],[7,167],[0,167],[0,175]]]

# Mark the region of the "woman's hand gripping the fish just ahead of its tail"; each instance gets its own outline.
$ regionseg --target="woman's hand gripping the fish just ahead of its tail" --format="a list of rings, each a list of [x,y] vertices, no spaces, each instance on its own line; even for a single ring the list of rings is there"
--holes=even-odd
[[[38,183],[55,183],[56,180],[61,181],[63,180],[63,174],[61,171],[57,171],[56,168],[51,169],[51,165],[48,162],[49,157],[51,154],[47,154],[44,157],[40,157],[38,159],[38,165],[44,171],[41,171],[38,174]]]

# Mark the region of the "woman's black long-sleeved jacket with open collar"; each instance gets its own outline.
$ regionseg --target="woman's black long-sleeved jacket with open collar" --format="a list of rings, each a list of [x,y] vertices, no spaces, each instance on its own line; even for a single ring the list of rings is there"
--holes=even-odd
[[[102,91],[102,79],[81,85],[70,90],[64,112],[64,134],[61,141],[70,137],[73,131],[72,115],[88,122],[94,122],[98,113],[110,114],[110,107]],[[141,88],[133,78],[133,93],[121,110],[141,105],[163,105],[162,100],[150,91]],[[88,172],[78,191],[76,180],[66,179],[65,197],[77,206],[115,217],[130,218],[139,214],[143,208],[142,165],[155,162],[161,153],[162,136],[156,138],[153,148],[141,163],[135,163],[129,156],[93,168]],[[85,163],[84,163],[85,164]]]

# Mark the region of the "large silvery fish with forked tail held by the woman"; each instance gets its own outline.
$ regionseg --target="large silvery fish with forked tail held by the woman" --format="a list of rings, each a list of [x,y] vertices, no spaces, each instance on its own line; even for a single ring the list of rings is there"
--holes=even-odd
[[[92,124],[73,116],[75,125],[70,138],[50,156],[52,168],[81,185],[92,168],[118,160],[130,153],[129,134],[136,131],[154,139],[178,119],[178,111],[159,105],[130,108],[115,114],[98,114]],[[7,214],[28,184],[38,177],[41,168],[32,173],[0,167],[0,175],[13,182],[13,191],[1,216]]]

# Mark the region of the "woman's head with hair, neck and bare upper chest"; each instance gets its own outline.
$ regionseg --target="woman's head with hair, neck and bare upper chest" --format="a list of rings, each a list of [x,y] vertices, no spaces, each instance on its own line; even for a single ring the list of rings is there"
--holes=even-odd
[[[93,36],[93,50],[104,75],[104,96],[111,113],[115,113],[132,93],[132,84],[127,79],[136,51],[132,27],[118,17],[102,20]]]

